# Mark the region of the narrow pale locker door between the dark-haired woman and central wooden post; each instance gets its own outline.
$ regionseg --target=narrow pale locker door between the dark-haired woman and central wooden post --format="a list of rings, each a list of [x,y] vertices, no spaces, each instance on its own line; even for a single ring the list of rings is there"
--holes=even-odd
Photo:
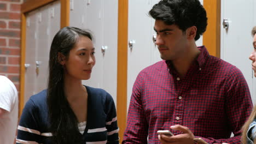
[[[102,5],[102,88],[112,95],[117,104],[118,0],[103,1]]]

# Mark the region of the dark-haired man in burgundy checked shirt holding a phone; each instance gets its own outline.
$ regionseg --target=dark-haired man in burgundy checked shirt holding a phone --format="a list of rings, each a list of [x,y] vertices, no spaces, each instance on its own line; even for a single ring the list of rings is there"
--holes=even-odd
[[[205,9],[198,0],[162,0],[149,15],[164,61],[138,74],[123,143],[240,143],[251,96],[240,70],[196,46],[207,26]]]

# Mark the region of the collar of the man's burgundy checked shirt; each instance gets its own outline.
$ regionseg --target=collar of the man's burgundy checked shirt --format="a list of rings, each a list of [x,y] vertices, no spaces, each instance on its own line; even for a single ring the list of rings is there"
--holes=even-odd
[[[196,62],[199,65],[199,67],[202,67],[203,64],[207,61],[207,58],[210,56],[205,46],[199,46],[197,47],[201,52],[199,53],[199,56],[196,58]],[[166,60],[165,63],[167,64],[167,67],[170,69],[172,67],[172,62]]]

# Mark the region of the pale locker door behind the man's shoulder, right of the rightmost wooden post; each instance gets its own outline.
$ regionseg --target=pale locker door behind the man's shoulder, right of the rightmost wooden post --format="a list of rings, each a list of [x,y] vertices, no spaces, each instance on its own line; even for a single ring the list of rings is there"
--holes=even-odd
[[[255,87],[252,85],[252,62],[248,56],[253,50],[253,0],[225,0],[221,5],[220,57],[242,71],[252,94]]]

